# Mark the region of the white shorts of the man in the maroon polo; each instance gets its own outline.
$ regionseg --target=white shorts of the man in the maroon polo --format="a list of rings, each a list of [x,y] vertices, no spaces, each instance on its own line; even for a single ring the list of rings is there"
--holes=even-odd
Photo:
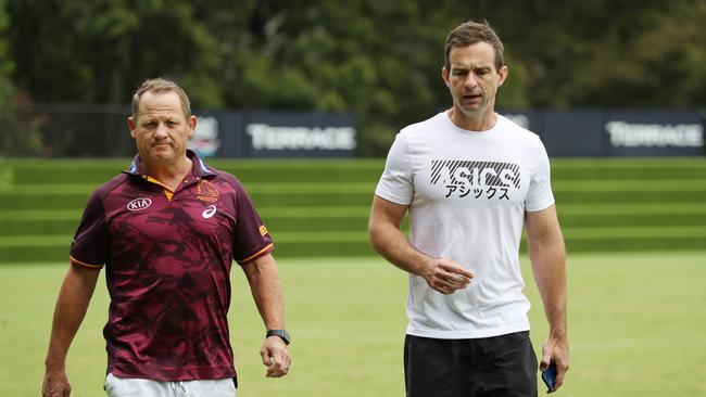
[[[109,397],[235,397],[232,379],[163,382],[139,377],[105,377]]]

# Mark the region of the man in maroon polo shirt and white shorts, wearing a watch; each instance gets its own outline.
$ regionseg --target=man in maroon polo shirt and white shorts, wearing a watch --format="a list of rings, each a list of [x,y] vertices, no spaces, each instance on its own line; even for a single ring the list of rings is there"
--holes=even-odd
[[[196,125],[172,81],[148,80],[133,97],[128,127],[138,155],[85,208],[54,310],[43,396],[71,393],[66,355],[103,267],[109,396],[235,396],[232,259],[267,330],[260,351],[266,375],[288,373],[272,239],[240,182],[187,150]]]

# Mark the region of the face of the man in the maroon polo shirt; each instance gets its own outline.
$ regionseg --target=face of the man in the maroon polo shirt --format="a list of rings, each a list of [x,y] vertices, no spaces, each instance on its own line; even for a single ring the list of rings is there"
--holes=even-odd
[[[140,99],[136,118],[129,117],[127,123],[143,161],[171,163],[186,155],[197,119],[186,118],[176,92],[148,91]]]

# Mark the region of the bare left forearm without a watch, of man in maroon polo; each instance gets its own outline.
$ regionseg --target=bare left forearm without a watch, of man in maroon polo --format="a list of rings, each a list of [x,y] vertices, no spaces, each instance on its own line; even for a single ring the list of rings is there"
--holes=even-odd
[[[66,355],[80,323],[86,316],[98,271],[71,266],[56,298],[56,306],[45,364],[47,371],[63,371]]]

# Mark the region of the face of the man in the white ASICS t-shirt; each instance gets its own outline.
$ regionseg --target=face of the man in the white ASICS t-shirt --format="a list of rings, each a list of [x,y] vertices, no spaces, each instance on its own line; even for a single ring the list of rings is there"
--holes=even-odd
[[[495,69],[495,50],[484,41],[467,47],[452,47],[450,69],[442,77],[451,91],[454,108],[469,118],[479,118],[493,112],[497,87],[507,77],[507,66]]]

